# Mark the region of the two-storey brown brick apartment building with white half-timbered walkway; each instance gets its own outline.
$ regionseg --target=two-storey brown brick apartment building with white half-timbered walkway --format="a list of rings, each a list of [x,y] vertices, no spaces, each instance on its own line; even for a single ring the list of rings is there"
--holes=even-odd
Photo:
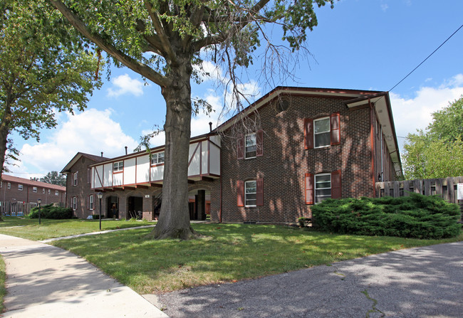
[[[84,166],[76,157],[62,171],[68,173],[68,200],[76,193],[76,216],[93,211],[78,202],[88,196],[91,206],[93,196],[95,206],[97,192],[105,216],[157,216],[163,146],[152,148],[151,157],[96,157]],[[88,181],[74,186],[72,173]],[[190,218],[204,219],[207,212],[212,221],[294,223],[324,198],[375,196],[375,182],[401,174],[387,92],[278,87],[191,139]]]

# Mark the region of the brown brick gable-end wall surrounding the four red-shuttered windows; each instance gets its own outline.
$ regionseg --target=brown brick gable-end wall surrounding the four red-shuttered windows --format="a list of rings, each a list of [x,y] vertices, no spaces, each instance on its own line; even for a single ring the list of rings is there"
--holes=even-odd
[[[304,119],[333,112],[340,112],[340,144],[304,149]],[[234,138],[223,139],[222,221],[293,223],[300,216],[310,216],[305,203],[306,173],[340,169],[343,197],[373,196],[369,107],[348,110],[338,98],[298,96],[290,98],[288,110],[277,113],[271,103],[259,110],[259,117],[258,128],[264,130],[263,157],[238,160]],[[238,207],[236,181],[257,177],[264,179],[264,206]],[[213,221],[219,221],[219,210],[212,200]]]

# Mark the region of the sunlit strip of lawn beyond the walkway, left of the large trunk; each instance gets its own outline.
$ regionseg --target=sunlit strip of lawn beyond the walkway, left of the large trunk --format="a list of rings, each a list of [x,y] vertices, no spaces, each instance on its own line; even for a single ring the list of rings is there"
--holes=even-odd
[[[46,238],[59,238],[61,236],[96,232],[100,230],[99,220],[48,220],[42,219],[38,225],[38,218],[20,218],[6,216],[0,222],[0,233],[18,236],[29,240],[44,240]],[[147,221],[113,221],[103,220],[101,230],[114,230],[116,228],[132,228],[134,226],[154,225]]]

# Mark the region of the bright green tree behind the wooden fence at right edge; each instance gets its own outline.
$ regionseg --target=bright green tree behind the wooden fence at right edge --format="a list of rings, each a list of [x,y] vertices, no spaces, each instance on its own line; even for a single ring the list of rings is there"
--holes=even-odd
[[[407,136],[402,152],[405,179],[463,176],[463,97],[432,118],[427,130]]]

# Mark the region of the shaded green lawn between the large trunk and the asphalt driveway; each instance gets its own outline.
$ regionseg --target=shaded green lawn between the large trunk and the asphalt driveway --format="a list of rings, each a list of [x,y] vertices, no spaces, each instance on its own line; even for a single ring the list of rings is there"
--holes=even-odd
[[[234,282],[402,248],[454,242],[334,235],[270,225],[193,224],[199,240],[147,240],[151,229],[59,240],[140,294]]]

